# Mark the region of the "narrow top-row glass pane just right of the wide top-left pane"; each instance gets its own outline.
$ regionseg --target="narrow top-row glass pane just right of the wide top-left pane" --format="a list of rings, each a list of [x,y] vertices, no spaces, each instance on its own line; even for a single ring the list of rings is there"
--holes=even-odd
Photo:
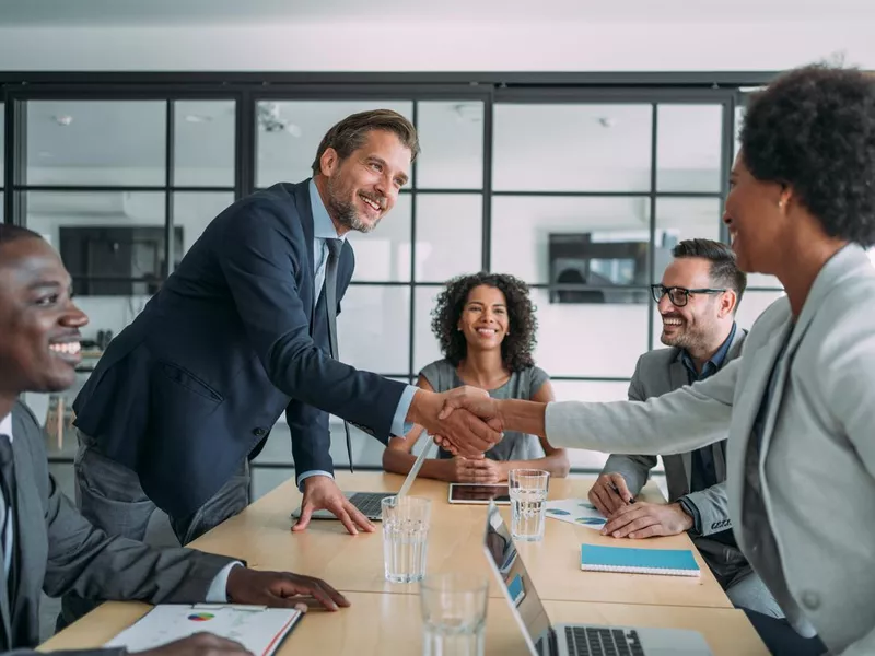
[[[174,184],[234,186],[234,101],[176,101]]]

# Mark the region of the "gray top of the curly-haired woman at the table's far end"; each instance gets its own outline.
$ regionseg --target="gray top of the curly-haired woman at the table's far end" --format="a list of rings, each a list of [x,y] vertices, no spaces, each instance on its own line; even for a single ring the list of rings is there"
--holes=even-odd
[[[425,366],[420,375],[424,377],[435,391],[447,391],[454,387],[465,385],[456,374],[456,367],[446,360],[438,360]],[[547,380],[547,373],[537,366],[530,366],[522,372],[511,374],[511,379],[498,389],[490,389],[489,396],[493,399],[523,399],[529,400]],[[493,460],[534,460],[544,457],[544,448],[536,435],[504,431],[504,437],[491,449],[486,452],[486,457]],[[440,449],[439,458],[452,458],[453,455]]]

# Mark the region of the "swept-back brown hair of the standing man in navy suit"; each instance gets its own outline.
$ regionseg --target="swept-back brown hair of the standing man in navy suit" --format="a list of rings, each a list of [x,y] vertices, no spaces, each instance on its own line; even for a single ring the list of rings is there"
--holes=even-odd
[[[410,162],[416,162],[419,155],[419,138],[413,124],[392,109],[371,109],[348,116],[325,133],[316,150],[316,159],[313,160],[313,175],[322,172],[320,160],[326,150],[335,149],[342,162],[364,145],[372,130],[385,130],[395,134],[410,151]]]

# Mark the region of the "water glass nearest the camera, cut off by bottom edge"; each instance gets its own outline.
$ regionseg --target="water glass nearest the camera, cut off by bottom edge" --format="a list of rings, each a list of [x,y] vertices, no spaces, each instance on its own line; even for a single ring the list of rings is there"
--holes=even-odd
[[[420,584],[423,656],[483,656],[486,576],[429,574]]]

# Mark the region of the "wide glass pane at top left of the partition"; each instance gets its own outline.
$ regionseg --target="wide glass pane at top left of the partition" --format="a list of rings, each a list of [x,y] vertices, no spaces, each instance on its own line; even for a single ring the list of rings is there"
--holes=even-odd
[[[27,184],[164,185],[164,101],[28,101]]]

